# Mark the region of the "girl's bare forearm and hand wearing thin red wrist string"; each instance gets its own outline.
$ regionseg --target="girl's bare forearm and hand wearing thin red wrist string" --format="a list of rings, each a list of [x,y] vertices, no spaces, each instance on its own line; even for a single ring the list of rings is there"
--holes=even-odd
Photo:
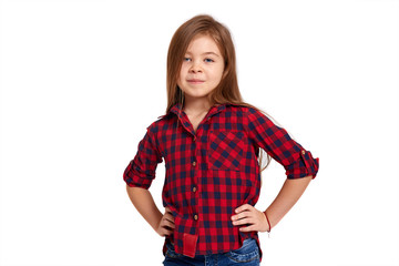
[[[311,175],[297,178],[286,180],[278,195],[266,209],[267,217],[269,218],[272,228],[278,224],[278,222],[288,213],[288,211],[295,205],[299,197],[305,192]],[[236,208],[236,215],[232,216],[233,225],[245,225],[249,226],[239,228],[242,232],[266,232],[268,227],[266,216],[260,211],[256,209],[249,204],[244,204]]]

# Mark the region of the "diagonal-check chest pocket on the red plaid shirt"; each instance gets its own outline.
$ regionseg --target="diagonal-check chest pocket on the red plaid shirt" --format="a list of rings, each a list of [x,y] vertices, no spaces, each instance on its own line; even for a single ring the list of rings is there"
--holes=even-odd
[[[244,133],[214,131],[209,134],[208,167],[239,171],[244,153]]]

